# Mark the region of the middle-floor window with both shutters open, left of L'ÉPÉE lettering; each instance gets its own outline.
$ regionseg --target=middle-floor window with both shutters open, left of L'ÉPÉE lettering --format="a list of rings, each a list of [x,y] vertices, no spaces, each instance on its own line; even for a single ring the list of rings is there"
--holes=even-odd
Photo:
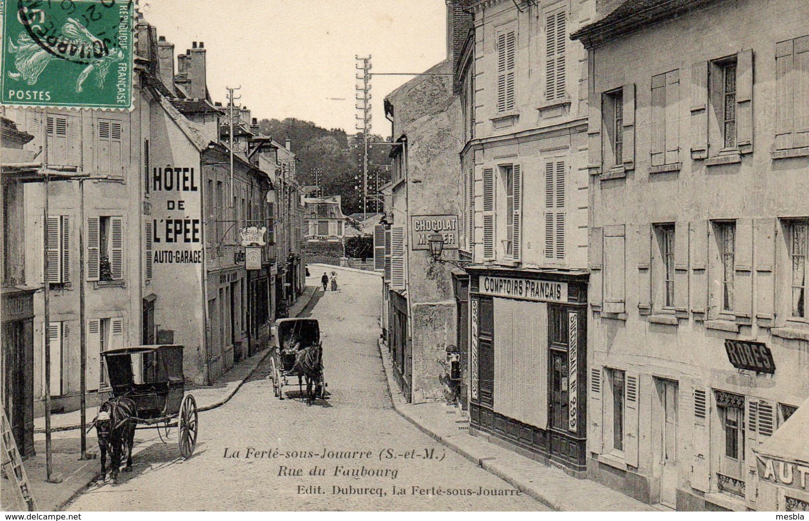
[[[124,225],[120,216],[87,218],[87,280],[124,278]]]

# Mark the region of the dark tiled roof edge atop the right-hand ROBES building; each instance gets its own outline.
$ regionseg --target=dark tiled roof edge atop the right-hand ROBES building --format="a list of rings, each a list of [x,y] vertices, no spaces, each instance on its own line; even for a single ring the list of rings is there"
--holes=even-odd
[[[612,37],[646,27],[662,19],[688,14],[715,0],[624,0],[603,18],[570,35],[571,40],[582,40],[590,48]]]

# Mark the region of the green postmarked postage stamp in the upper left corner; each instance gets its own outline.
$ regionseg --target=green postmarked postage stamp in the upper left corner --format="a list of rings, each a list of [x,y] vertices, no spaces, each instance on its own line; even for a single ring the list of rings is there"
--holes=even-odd
[[[133,0],[0,0],[2,104],[132,108]]]

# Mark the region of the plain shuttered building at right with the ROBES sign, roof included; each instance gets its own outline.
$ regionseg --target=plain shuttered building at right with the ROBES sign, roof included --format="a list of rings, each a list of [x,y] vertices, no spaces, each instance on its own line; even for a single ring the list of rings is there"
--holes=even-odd
[[[768,440],[809,396],[809,6],[602,9],[574,35],[591,108],[589,475],[677,510],[805,510],[805,482],[771,486],[759,450],[779,457]]]

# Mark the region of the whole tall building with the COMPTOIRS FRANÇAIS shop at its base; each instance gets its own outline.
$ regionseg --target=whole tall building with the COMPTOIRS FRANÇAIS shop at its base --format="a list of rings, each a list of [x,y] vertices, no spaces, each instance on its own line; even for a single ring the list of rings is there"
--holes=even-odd
[[[587,77],[593,2],[463,2],[461,244],[472,433],[587,471]],[[460,288],[463,290],[463,288]]]

